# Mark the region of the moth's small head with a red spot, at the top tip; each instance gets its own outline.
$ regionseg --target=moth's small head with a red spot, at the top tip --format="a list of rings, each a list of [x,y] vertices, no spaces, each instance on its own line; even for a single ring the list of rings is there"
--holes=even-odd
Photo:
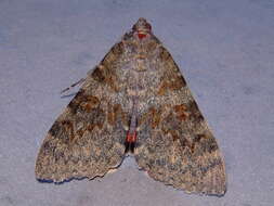
[[[141,17],[132,27],[134,36],[139,39],[146,38],[152,34],[152,25],[146,22],[145,18]]]

